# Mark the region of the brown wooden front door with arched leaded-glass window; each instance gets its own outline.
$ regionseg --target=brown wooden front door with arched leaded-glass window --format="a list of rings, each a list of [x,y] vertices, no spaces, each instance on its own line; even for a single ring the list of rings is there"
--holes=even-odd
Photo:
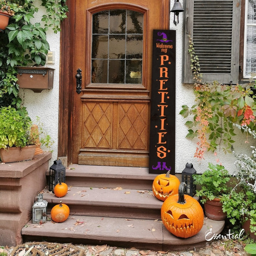
[[[168,29],[169,1],[74,2],[70,72],[80,68],[82,78],[81,92],[73,90],[72,162],[147,167],[152,33]]]

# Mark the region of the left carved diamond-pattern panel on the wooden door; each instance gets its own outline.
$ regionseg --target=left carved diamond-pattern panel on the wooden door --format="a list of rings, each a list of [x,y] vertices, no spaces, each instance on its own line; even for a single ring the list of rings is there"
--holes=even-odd
[[[112,148],[112,106],[84,101],[84,148]]]

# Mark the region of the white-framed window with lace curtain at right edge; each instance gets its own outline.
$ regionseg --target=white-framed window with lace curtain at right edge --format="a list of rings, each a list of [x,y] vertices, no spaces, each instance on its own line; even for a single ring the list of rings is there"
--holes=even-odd
[[[245,1],[244,78],[256,73],[256,0]]]

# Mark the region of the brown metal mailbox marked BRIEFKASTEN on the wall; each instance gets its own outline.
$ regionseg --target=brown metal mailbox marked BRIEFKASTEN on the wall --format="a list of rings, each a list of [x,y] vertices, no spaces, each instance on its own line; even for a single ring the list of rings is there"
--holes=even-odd
[[[17,67],[17,84],[20,88],[42,92],[53,88],[54,68],[48,67]]]

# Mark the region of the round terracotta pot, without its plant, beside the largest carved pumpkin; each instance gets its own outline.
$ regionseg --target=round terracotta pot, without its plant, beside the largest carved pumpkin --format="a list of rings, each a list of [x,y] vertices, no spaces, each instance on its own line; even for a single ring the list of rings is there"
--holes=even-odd
[[[205,215],[211,220],[225,220],[227,213],[222,211],[222,203],[219,198],[207,200],[204,203]]]

